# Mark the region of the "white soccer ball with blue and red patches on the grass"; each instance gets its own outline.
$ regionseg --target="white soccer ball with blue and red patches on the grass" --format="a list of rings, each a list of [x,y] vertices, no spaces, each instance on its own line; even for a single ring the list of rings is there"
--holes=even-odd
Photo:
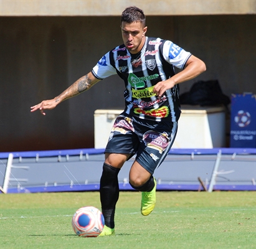
[[[96,207],[81,207],[72,218],[72,227],[80,237],[97,237],[103,230],[105,221]]]

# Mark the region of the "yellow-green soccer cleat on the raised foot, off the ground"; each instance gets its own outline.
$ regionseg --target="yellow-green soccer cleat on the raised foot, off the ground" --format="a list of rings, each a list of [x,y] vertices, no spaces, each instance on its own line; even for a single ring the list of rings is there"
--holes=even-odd
[[[149,192],[141,192],[141,214],[149,215],[156,204],[156,179],[154,179],[154,188]]]

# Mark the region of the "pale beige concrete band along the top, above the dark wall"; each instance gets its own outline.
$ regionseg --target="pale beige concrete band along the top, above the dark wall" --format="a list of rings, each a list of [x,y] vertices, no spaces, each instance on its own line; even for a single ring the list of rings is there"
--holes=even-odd
[[[147,16],[255,14],[255,0],[2,0],[1,16],[120,16],[128,6],[141,7]]]

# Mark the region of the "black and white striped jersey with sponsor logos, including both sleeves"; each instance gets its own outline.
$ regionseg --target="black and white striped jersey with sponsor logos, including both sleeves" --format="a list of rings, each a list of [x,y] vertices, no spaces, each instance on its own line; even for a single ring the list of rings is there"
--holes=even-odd
[[[167,80],[174,66],[184,68],[191,54],[169,40],[146,37],[138,54],[120,45],[103,55],[93,67],[93,75],[103,80],[118,74],[125,82],[125,113],[155,121],[178,121],[181,108],[179,87],[167,90],[161,99],[153,92],[156,83]]]

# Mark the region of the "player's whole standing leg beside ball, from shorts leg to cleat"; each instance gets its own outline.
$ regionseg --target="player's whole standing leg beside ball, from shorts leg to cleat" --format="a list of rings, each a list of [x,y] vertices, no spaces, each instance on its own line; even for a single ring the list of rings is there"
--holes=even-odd
[[[100,200],[106,224],[102,236],[110,235],[115,227],[115,206],[119,197],[118,172],[126,159],[135,154],[140,143],[134,131],[133,120],[124,114],[116,118],[111,129],[100,180]]]

